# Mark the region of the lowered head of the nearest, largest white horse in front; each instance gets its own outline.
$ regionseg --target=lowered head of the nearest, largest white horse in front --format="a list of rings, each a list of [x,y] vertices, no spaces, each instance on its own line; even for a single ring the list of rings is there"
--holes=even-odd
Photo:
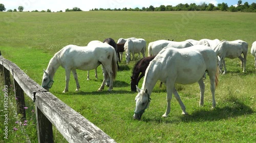
[[[137,85],[136,85],[136,88],[137,88],[138,94],[135,97],[136,107],[134,110],[133,118],[140,120],[145,109],[148,106],[150,106],[151,98],[150,98],[150,94],[148,93],[147,89],[140,90]]]

